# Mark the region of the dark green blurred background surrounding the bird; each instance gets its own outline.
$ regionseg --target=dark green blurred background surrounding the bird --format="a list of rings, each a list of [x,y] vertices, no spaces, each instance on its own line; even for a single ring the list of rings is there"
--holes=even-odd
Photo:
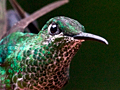
[[[55,0],[17,1],[31,14]],[[9,2],[7,8],[12,8]],[[120,0],[70,0],[39,18],[39,28],[51,17],[60,15],[78,20],[86,32],[109,42],[83,42],[71,62],[69,83],[62,90],[120,90]]]

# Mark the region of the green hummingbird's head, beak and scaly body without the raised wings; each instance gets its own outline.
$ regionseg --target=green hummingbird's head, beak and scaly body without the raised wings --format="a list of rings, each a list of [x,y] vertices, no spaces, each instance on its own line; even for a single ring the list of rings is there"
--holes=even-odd
[[[61,89],[69,80],[72,58],[86,40],[108,44],[65,16],[51,18],[38,34],[9,34],[0,41],[1,90]]]

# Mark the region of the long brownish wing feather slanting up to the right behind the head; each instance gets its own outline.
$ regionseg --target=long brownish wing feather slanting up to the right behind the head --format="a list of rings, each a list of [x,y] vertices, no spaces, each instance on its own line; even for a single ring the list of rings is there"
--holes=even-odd
[[[33,21],[35,21],[36,19],[38,19],[39,17],[47,14],[48,12],[68,3],[69,0],[59,0],[56,2],[53,2],[43,8],[41,8],[40,10],[36,11],[35,13],[31,14],[29,17],[26,17],[24,19],[22,19],[21,21],[19,21],[18,23],[16,23],[16,25],[14,25],[9,32],[7,32],[4,36],[9,35],[10,33],[16,32],[17,30],[20,30],[21,32],[24,31],[24,29]]]

